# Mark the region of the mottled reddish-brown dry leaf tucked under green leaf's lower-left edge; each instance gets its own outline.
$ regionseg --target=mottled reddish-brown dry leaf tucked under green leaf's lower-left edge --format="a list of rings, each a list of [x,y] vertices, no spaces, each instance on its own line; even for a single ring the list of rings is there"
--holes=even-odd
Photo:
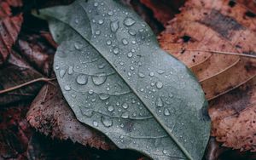
[[[45,84],[32,102],[27,120],[41,133],[61,140],[70,139],[86,146],[109,150],[115,148],[105,136],[79,123],[67,105],[57,84]]]

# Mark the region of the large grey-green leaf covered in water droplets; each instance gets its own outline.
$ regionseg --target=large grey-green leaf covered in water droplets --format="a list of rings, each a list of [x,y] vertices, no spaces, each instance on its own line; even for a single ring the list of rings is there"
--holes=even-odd
[[[40,16],[60,44],[55,73],[79,121],[154,159],[203,157],[201,86],[137,14],[113,0],[78,0]]]

